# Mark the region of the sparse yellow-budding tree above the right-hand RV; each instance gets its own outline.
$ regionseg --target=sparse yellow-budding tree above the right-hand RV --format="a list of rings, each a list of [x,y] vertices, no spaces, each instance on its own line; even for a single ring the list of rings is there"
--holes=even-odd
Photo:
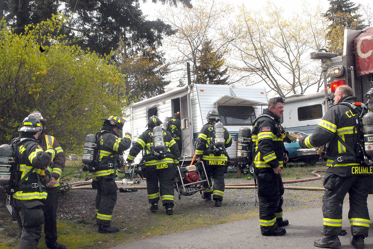
[[[250,80],[247,85],[264,83],[270,91],[280,96],[303,94],[309,87],[320,83],[319,74],[313,73],[309,53],[322,46],[315,20],[317,14],[304,18],[294,13],[291,17],[282,9],[273,9],[269,3],[265,14],[242,7],[232,33],[231,56],[238,61],[231,67],[240,71],[240,80]],[[315,12],[303,12],[315,13]],[[320,72],[320,65],[317,72]]]

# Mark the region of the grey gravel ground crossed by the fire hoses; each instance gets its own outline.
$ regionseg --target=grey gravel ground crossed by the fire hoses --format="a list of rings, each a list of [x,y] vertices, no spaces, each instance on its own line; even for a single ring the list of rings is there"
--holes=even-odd
[[[323,174],[323,173],[320,173]],[[312,176],[310,176],[312,177]],[[283,179],[283,181],[290,179]],[[228,178],[225,184],[252,183],[253,180],[245,178]],[[145,180],[141,180],[141,186],[146,186]],[[322,187],[320,180],[284,184],[285,186]],[[283,210],[288,211],[298,208],[308,208],[321,205],[323,191],[309,190],[286,190],[283,203]],[[94,223],[92,217],[95,213],[94,199],[95,190],[71,190],[71,194],[59,199],[59,210],[57,216],[60,218],[76,220],[79,223]],[[213,201],[204,201],[200,193],[191,196],[182,196],[178,199],[175,191],[174,215],[206,216],[212,220],[219,220],[221,223],[229,219],[239,220],[258,216],[258,207],[255,206],[254,189],[226,189],[223,203],[220,208],[214,207]],[[161,203],[160,203],[161,205]],[[136,226],[137,222],[148,220],[150,204],[147,201],[147,191],[138,190],[132,193],[119,193],[117,203],[113,211],[113,222]],[[157,213],[164,213],[161,208]],[[131,217],[131,218],[129,218]],[[133,219],[136,218],[136,219]],[[125,227],[122,225],[122,229]]]

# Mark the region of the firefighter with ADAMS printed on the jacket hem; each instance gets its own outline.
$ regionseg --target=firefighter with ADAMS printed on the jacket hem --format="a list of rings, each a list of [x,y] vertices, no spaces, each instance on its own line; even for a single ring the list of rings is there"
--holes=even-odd
[[[173,180],[176,177],[174,164],[179,163],[179,149],[171,134],[162,129],[166,152],[163,156],[157,155],[154,148],[153,128],[160,126],[162,122],[157,116],[151,116],[148,120],[148,129],[136,140],[129,151],[129,165],[134,161],[137,154],[144,150],[141,167],[142,175],[146,178],[148,201],[151,204],[150,211],[158,210],[158,201],[162,200],[162,206],[166,208],[168,215],[173,214]],[[159,182],[159,187],[158,187]]]

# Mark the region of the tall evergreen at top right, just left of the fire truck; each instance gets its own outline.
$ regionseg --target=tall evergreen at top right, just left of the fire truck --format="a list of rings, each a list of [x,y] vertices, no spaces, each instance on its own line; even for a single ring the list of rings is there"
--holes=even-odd
[[[324,16],[331,22],[327,32],[329,52],[343,53],[344,30],[363,30],[361,15],[357,14],[360,4],[355,6],[350,0],[329,0],[330,7]]]

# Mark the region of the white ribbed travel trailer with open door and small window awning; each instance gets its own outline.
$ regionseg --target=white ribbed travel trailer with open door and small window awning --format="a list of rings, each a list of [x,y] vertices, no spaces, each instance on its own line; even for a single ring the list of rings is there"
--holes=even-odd
[[[252,126],[256,117],[267,107],[264,87],[234,85],[191,84],[172,88],[166,93],[139,101],[125,108],[123,130],[131,131],[135,141],[145,131],[147,120],[156,115],[161,120],[181,112],[182,152],[181,158],[191,161],[195,143],[210,110],[217,110],[224,127],[232,136],[232,146],[227,149],[231,161],[236,158],[236,135],[242,126]],[[125,152],[125,157],[128,151]],[[134,163],[138,164],[138,155]]]

